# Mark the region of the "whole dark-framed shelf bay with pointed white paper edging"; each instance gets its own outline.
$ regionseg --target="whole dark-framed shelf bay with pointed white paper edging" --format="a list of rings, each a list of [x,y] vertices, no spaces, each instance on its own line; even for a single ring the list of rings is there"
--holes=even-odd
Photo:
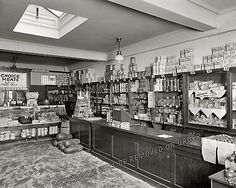
[[[189,76],[188,123],[227,128],[226,72]]]

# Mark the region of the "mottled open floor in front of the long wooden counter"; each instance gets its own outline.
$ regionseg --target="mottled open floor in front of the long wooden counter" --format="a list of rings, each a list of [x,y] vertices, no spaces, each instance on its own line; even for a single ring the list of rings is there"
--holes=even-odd
[[[64,154],[49,141],[0,145],[0,187],[153,188],[91,154]]]

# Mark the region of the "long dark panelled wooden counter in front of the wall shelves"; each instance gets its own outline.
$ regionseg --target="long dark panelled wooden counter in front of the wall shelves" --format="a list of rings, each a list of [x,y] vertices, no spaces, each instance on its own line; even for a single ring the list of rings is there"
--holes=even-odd
[[[203,160],[197,135],[146,127],[124,130],[81,119],[71,120],[71,133],[92,154],[169,187],[210,187],[208,176],[223,169]],[[163,134],[172,137],[157,137]]]

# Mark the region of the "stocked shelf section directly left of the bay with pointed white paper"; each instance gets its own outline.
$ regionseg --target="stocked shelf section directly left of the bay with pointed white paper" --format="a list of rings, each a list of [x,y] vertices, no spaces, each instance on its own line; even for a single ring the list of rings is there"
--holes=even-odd
[[[163,125],[183,126],[182,76],[154,78],[155,108],[152,121]]]

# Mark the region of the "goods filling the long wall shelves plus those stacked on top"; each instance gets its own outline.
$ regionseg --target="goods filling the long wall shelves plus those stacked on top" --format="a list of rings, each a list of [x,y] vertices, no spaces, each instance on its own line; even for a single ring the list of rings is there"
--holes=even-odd
[[[107,65],[105,80],[89,86],[94,87],[90,92],[90,105],[94,109],[97,107],[98,115],[110,116],[112,110],[123,107],[128,108],[131,117],[137,120],[192,128],[206,125],[235,129],[236,84],[234,79],[223,78],[226,77],[226,73],[230,72],[233,75],[235,72],[232,72],[232,69],[220,69],[234,65],[235,44],[212,48],[211,54],[203,57],[203,63],[194,61],[195,54],[192,48],[180,50],[179,57],[157,56],[153,64],[143,67],[144,70],[138,70],[136,60],[140,59],[131,57],[128,79],[124,79],[124,65]],[[138,63],[144,65],[145,62]],[[202,71],[204,69],[219,70]],[[221,73],[225,76],[211,76]],[[232,94],[227,91],[230,88]],[[152,97],[150,93],[153,93]],[[226,105],[229,101],[232,101],[230,106]],[[188,110],[184,111],[184,107],[188,107]],[[228,116],[227,113],[231,109],[232,115]],[[229,122],[232,123],[228,125]],[[203,126],[202,128],[204,129]],[[211,128],[206,127],[205,130]]]

